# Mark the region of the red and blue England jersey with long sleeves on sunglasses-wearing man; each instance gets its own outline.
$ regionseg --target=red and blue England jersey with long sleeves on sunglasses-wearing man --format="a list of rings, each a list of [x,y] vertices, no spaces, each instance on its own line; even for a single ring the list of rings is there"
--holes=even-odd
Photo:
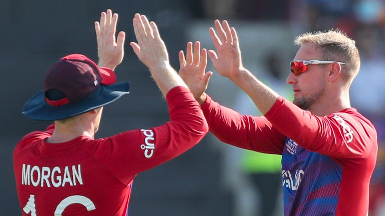
[[[210,96],[202,109],[222,141],[282,154],[284,215],[367,214],[377,135],[356,109],[317,116],[279,97],[265,117],[255,117]]]

